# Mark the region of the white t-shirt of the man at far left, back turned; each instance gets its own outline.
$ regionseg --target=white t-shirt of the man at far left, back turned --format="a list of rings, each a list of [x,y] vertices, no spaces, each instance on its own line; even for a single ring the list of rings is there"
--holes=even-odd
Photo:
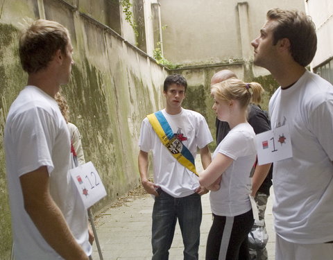
[[[46,243],[24,209],[19,177],[41,166],[47,166],[51,196],[76,241],[87,255],[91,254],[87,211],[68,173],[69,132],[56,101],[38,87],[25,87],[10,107],[4,143],[15,259],[62,259]]]

